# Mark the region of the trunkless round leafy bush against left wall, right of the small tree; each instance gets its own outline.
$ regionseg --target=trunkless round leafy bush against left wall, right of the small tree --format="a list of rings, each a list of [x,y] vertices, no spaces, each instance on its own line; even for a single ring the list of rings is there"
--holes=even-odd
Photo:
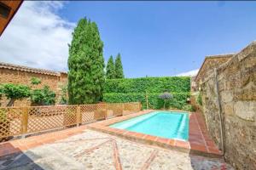
[[[55,93],[48,86],[42,89],[34,89],[31,94],[33,105],[55,105]]]

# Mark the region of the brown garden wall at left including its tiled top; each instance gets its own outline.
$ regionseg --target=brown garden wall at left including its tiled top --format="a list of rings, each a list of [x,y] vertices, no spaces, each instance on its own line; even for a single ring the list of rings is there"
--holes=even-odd
[[[41,83],[38,85],[32,85],[32,77],[38,77],[41,80]],[[55,92],[57,99],[56,103],[58,103],[59,97],[61,95],[61,86],[67,84],[67,73],[0,63],[0,84],[9,82],[24,84],[31,87],[32,89],[43,88],[44,85],[47,85],[52,91]],[[5,97],[2,97],[0,100],[0,104],[2,106],[7,105],[8,102],[9,99],[6,99]],[[29,99],[15,101],[15,106],[26,105],[31,105]]]

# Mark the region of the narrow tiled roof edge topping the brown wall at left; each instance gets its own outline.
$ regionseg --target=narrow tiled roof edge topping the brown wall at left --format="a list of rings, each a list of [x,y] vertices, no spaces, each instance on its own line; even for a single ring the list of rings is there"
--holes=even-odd
[[[23,65],[13,65],[9,63],[3,63],[3,62],[0,62],[0,68],[15,70],[15,71],[33,72],[33,73],[52,75],[52,76],[60,76],[61,74],[67,74],[67,72],[57,72],[57,71],[49,71],[44,69],[36,69],[36,68],[27,67]]]

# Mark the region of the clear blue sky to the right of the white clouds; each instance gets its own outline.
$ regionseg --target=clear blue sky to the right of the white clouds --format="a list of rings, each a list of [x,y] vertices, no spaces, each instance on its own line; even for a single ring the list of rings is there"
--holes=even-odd
[[[95,21],[104,58],[120,53],[125,77],[195,70],[256,40],[256,2],[69,2],[59,14]]]

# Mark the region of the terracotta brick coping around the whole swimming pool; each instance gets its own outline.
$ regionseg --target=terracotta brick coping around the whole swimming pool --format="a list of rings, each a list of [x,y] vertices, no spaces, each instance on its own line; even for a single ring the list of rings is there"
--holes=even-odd
[[[109,133],[121,138],[130,139],[143,144],[151,144],[160,146],[166,149],[182,151],[195,155],[208,156],[208,157],[222,157],[223,154],[207,133],[203,119],[200,113],[189,111],[177,111],[189,113],[189,140],[184,141],[180,139],[166,139],[161,137],[152,136],[144,133],[131,132],[125,129],[118,129],[108,127],[109,125],[131,119],[136,116],[142,116],[152,111],[160,110],[146,110],[132,113],[125,116],[118,116],[101,122],[95,122],[87,125],[88,128],[102,133]],[[175,110],[173,110],[175,111]],[[190,121],[191,120],[191,121]],[[191,128],[190,128],[191,127]]]

